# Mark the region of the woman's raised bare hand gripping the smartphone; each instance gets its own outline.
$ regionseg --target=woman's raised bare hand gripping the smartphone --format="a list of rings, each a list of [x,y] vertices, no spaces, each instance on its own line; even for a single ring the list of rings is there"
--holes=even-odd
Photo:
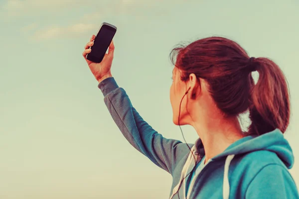
[[[90,46],[94,44],[96,36],[92,35],[90,38],[90,42],[88,42],[85,46],[85,50],[83,52],[83,57],[86,60],[89,69],[91,70],[92,74],[95,76],[96,80],[100,83],[106,78],[112,77],[111,75],[111,65],[113,61],[114,55],[114,44],[113,41],[109,46],[108,54],[105,54],[101,63],[94,63],[86,59],[86,55],[91,52]]]

